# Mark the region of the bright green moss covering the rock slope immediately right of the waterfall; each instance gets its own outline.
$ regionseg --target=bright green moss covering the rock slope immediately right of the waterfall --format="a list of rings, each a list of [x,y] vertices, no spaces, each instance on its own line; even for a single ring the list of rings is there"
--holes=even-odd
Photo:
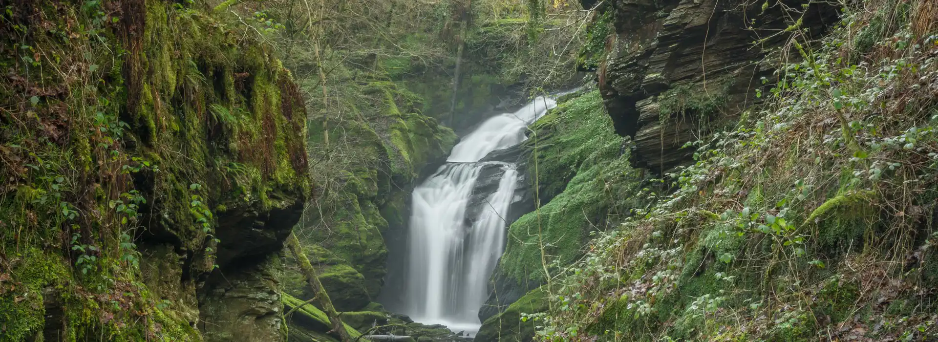
[[[567,264],[582,255],[591,230],[604,230],[638,204],[641,178],[622,154],[623,139],[613,132],[598,91],[561,104],[537,121],[536,136],[525,142],[537,151],[528,162],[531,179],[551,201],[508,229],[501,270],[519,282],[543,279],[541,246],[547,262]]]

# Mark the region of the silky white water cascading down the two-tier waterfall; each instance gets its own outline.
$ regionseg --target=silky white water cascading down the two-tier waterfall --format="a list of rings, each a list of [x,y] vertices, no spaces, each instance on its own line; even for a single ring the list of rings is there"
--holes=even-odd
[[[446,165],[414,189],[403,309],[413,320],[475,335],[478,309],[489,296],[489,275],[505,246],[503,217],[518,183],[514,164],[479,160],[524,141],[527,126],[555,106],[552,98],[537,97],[518,112],[486,120],[453,147]],[[478,216],[466,217],[486,166],[504,173]]]

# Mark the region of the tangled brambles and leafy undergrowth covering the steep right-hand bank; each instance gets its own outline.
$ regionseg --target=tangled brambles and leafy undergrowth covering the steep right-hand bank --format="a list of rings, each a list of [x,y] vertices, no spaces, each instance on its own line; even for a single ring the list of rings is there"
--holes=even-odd
[[[550,280],[539,339],[938,337],[936,5],[843,10],[793,22],[765,103]]]

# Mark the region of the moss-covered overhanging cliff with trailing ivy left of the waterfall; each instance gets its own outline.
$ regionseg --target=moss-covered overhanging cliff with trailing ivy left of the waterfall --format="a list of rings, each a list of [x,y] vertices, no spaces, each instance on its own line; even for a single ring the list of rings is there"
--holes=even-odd
[[[0,340],[282,340],[306,110],[264,39],[204,5],[0,5]]]

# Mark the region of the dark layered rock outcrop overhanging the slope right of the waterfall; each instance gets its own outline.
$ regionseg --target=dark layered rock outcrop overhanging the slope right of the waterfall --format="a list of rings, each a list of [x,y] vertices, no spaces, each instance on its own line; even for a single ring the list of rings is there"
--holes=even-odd
[[[612,12],[614,35],[598,67],[599,89],[616,132],[635,143],[635,166],[658,172],[688,162],[693,151],[681,149],[687,141],[732,123],[758,100],[755,88],[763,86],[762,77],[773,82],[775,67],[762,60],[764,52],[787,37],[769,34],[787,28],[779,5],[614,0],[601,6]],[[817,3],[799,20],[813,35],[835,21],[834,8]]]

